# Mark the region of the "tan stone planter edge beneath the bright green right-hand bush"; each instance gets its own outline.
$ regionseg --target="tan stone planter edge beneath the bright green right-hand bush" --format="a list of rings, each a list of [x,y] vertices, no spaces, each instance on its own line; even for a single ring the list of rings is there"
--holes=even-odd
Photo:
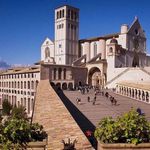
[[[150,143],[135,145],[126,143],[104,144],[98,142],[98,150],[150,150]]]

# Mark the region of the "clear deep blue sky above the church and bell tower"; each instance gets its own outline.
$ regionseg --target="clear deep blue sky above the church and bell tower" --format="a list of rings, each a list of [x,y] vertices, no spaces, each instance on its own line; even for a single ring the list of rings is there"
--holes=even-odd
[[[0,58],[9,64],[40,60],[46,37],[54,39],[54,9],[69,4],[80,9],[80,39],[120,32],[138,16],[150,53],[149,0],[0,0]]]

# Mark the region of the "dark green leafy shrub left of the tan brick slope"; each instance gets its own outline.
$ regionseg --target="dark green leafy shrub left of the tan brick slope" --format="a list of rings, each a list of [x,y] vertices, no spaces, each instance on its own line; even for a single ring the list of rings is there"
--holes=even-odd
[[[31,141],[43,141],[47,134],[43,126],[38,123],[31,124],[23,107],[14,107],[8,119],[0,124],[0,143],[4,150],[26,149]]]

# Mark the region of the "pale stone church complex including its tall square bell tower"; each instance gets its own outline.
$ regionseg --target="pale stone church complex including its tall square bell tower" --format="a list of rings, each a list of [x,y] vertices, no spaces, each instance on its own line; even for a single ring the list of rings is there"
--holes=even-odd
[[[137,17],[130,26],[123,24],[119,33],[79,40],[79,9],[59,7],[55,10],[55,40],[46,38],[43,42],[41,62],[49,66],[47,78],[61,88],[63,84],[68,87],[66,73],[72,87],[89,84],[114,88],[119,81],[135,80],[139,68],[143,73],[136,80],[150,81],[146,36]],[[84,75],[78,78],[75,68]]]

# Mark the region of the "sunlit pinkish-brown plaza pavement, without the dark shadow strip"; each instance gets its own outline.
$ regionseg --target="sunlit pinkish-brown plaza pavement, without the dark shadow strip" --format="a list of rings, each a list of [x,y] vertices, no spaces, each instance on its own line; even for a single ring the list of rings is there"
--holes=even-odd
[[[137,100],[123,97],[109,91],[111,96],[114,96],[117,100],[117,105],[112,105],[110,100],[100,94],[97,95],[96,103],[93,105],[94,91],[90,90],[89,93],[81,94],[79,91],[63,91],[66,97],[81,111],[86,118],[93,123],[94,126],[98,124],[100,119],[107,116],[116,117],[125,112],[128,112],[131,107],[142,109],[146,118],[150,120],[150,104],[140,102]],[[87,97],[90,97],[90,102],[87,101]],[[76,98],[81,99],[81,104],[77,104]]]

